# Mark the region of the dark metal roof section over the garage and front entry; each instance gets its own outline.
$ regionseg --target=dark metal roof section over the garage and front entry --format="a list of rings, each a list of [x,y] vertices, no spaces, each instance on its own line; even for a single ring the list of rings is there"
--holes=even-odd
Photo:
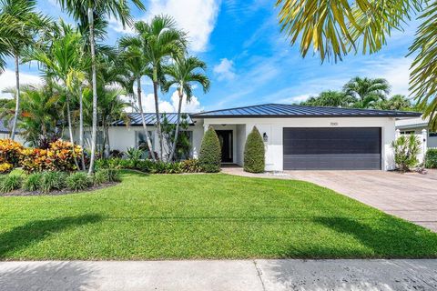
[[[320,107],[285,104],[265,104],[236,107],[222,110],[201,112],[191,115],[192,118],[225,118],[225,117],[417,117],[419,112],[391,111],[377,109],[355,109],[341,107]]]

